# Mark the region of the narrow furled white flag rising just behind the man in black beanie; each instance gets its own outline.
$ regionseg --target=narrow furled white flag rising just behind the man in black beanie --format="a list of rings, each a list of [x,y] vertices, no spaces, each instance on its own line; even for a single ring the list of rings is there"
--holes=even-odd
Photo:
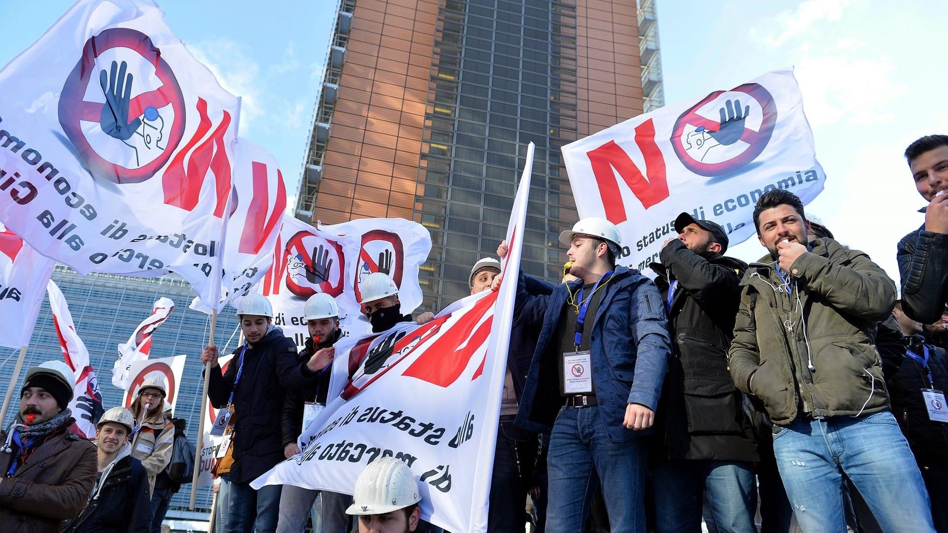
[[[76,375],[72,401],[69,402],[69,409],[76,418],[73,431],[85,438],[94,439],[96,424],[104,413],[99,381],[89,361],[89,351],[76,333],[76,326],[72,322],[72,314],[65,303],[63,292],[52,280],[46,285],[46,292],[49,293],[49,307],[53,312],[53,324],[56,326],[56,336],[59,337],[63,358]]]

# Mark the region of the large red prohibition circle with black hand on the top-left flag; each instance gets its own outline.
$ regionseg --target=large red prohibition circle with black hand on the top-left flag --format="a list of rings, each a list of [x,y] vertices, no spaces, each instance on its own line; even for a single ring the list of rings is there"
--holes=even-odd
[[[164,151],[151,162],[137,168],[127,168],[101,156],[89,144],[86,132],[82,131],[83,121],[99,124],[102,107],[107,105],[97,101],[86,101],[84,96],[90,83],[93,84],[92,91],[101,91],[99,75],[102,68],[96,65],[96,60],[103,52],[113,48],[126,48],[135,52],[142,61],[155,68],[155,77],[161,82],[160,87],[133,98],[129,102],[128,117],[119,119],[127,121],[127,119],[142,117],[146,115],[145,111],[148,108],[161,109],[169,104],[174,114]],[[141,72],[141,69],[136,68],[139,64],[137,59],[131,68],[133,72]],[[144,81],[142,78],[144,77],[138,77],[137,83],[142,83]],[[155,109],[148,109],[148,111],[154,114]],[[92,175],[116,183],[140,183],[164,167],[178,143],[184,138],[186,115],[181,87],[174,77],[171,66],[161,57],[161,50],[152,44],[148,35],[129,28],[106,29],[85,42],[85,46],[82,47],[82,58],[66,78],[59,101],[60,125],[63,126],[66,137],[72,141],[79,152],[82,163]],[[152,119],[147,116],[145,118]],[[85,127],[88,129],[88,125]],[[106,135],[98,127],[91,133]],[[116,142],[120,141],[116,140]]]

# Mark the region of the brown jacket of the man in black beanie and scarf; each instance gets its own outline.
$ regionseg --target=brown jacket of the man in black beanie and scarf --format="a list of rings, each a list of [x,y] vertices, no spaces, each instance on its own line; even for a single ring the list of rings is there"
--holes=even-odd
[[[7,435],[0,432],[0,439]],[[82,512],[96,481],[96,447],[72,432],[53,435],[12,477],[12,455],[0,453],[0,531],[56,533]]]

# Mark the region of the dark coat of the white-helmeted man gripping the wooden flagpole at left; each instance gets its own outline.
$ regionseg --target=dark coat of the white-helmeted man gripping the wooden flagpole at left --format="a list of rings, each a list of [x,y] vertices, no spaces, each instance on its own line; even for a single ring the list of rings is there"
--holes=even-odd
[[[208,398],[215,408],[228,403],[243,350],[243,346],[234,350],[234,358],[223,376],[220,366],[210,369]],[[305,388],[311,380],[297,361],[296,344],[284,337],[279,327],[271,328],[263,340],[248,347],[244,371],[234,390],[231,483],[249,483],[283,461],[284,391]]]

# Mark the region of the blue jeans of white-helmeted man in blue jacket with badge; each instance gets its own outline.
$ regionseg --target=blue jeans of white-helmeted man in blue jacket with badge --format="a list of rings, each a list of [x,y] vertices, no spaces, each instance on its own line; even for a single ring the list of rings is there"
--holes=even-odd
[[[598,407],[561,409],[550,436],[546,531],[583,531],[598,478],[611,533],[644,532],[646,453],[638,438],[612,442]]]

